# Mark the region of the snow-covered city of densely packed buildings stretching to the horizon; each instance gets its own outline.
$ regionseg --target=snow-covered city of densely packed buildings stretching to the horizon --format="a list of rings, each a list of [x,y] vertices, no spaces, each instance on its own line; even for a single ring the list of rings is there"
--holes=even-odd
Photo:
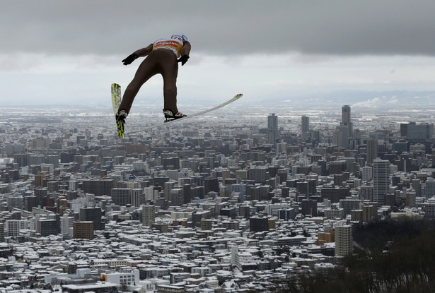
[[[434,124],[41,116],[0,117],[0,292],[267,291],[355,225],[435,217]]]

